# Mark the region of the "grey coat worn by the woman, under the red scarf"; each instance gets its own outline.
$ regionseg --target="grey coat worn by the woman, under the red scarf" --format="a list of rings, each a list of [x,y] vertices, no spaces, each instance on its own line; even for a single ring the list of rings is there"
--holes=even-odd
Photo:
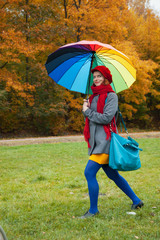
[[[103,125],[111,122],[112,118],[118,109],[118,97],[115,93],[110,92],[107,96],[107,102],[103,109],[103,114],[97,112],[97,101],[99,95],[92,100],[91,106],[85,112],[85,117],[88,117],[90,126],[89,143],[91,148],[88,148],[88,154],[106,153],[109,154],[110,140],[106,140],[106,133]]]

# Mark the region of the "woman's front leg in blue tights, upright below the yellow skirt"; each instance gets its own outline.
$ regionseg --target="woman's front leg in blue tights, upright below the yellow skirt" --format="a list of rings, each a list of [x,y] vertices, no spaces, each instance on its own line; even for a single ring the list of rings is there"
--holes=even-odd
[[[85,168],[84,174],[88,183],[89,197],[90,197],[90,213],[98,212],[98,194],[99,194],[99,185],[96,179],[96,174],[101,168],[101,165],[89,160]]]

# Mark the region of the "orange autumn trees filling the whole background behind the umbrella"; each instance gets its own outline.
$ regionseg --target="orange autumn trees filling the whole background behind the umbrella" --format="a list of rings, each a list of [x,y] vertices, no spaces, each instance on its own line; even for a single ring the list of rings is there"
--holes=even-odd
[[[137,80],[118,94],[120,107],[132,126],[153,126],[159,114],[160,21],[147,3],[1,0],[1,131],[82,132],[82,95],[54,83],[44,64],[60,46],[85,39],[109,43],[131,58]]]

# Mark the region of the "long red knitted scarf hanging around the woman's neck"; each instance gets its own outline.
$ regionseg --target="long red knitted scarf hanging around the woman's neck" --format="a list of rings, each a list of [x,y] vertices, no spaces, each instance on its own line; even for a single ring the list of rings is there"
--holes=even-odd
[[[97,112],[103,113],[103,108],[105,106],[105,100],[107,98],[107,94],[109,92],[114,92],[111,85],[100,85],[100,86],[91,86],[93,94],[89,98],[90,104],[92,103],[92,100],[95,96],[99,95],[98,102],[97,102]],[[108,140],[111,137],[111,131],[110,131],[110,124],[103,125],[104,131],[107,135],[106,140]],[[116,122],[115,117],[113,117],[111,121],[111,128],[113,132],[116,132]],[[90,139],[90,130],[89,130],[89,119],[86,117],[85,127],[84,127],[84,138],[85,141],[88,143],[88,147],[90,148],[89,139]]]

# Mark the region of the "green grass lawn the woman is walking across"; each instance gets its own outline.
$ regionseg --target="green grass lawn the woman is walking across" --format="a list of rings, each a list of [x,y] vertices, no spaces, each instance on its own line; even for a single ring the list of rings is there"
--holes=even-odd
[[[9,240],[160,239],[160,138],[138,139],[142,168],[121,172],[144,200],[131,201],[99,171],[100,214],[77,219],[89,208],[84,142],[0,147],[0,225]]]

